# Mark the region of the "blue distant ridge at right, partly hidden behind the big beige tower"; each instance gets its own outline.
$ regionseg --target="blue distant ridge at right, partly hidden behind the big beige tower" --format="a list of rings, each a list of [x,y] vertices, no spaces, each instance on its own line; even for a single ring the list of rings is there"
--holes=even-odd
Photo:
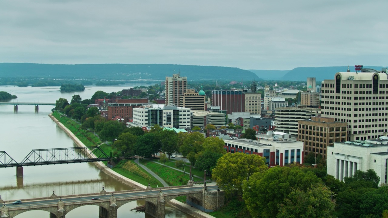
[[[380,71],[381,66],[364,66]],[[338,72],[346,72],[348,66],[338,67],[296,67],[282,76],[281,80],[305,81],[308,77],[315,77],[316,81],[334,80]],[[354,66],[349,67],[350,72],[355,72]]]

